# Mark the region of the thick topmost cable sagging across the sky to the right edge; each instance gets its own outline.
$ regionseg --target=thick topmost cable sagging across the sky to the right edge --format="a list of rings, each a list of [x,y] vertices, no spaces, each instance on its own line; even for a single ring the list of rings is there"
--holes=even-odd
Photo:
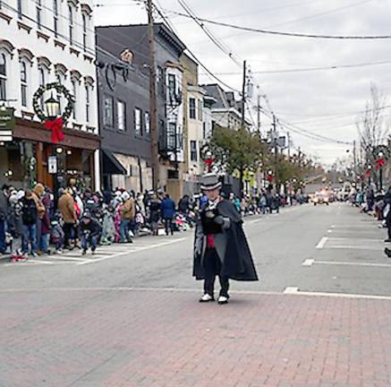
[[[183,17],[189,18],[190,16],[186,13],[180,13],[176,11],[170,11],[174,14],[178,14]],[[257,32],[267,35],[278,35],[293,38],[306,38],[306,39],[339,39],[339,40],[378,40],[378,39],[391,39],[391,35],[323,35],[323,34],[312,34],[312,33],[298,33],[298,32],[286,32],[276,30],[262,30],[246,26],[240,26],[237,24],[231,24],[227,22],[217,22],[215,20],[199,18],[200,22],[207,22],[209,24],[218,25],[221,27],[231,28],[234,30],[245,30],[249,32]]]

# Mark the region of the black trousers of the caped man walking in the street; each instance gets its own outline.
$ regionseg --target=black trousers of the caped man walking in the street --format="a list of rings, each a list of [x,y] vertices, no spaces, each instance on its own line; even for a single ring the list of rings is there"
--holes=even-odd
[[[205,252],[204,271],[204,293],[213,297],[215,291],[215,280],[216,276],[218,276],[218,280],[220,281],[221,287],[220,296],[229,297],[229,281],[228,278],[220,276],[221,261],[220,258],[218,258],[217,251],[215,248],[208,248]]]

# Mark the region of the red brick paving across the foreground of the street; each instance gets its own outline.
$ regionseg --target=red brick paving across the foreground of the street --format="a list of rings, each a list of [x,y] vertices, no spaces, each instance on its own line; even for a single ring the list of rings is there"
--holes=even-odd
[[[218,306],[198,297],[1,291],[0,386],[391,385],[391,301],[236,294]]]

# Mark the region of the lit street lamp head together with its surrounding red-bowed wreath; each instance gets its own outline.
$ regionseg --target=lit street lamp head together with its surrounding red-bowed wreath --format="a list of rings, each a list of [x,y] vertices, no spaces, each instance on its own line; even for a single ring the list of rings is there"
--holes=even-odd
[[[49,99],[44,102],[46,114],[40,106],[40,99],[46,91],[52,90]],[[67,105],[64,108],[63,114],[60,116],[60,102],[53,97],[53,90],[58,94],[63,94],[67,100]],[[34,93],[32,104],[35,114],[43,122],[46,129],[52,132],[52,142],[57,143],[64,140],[63,126],[72,115],[73,104],[75,102],[71,92],[58,82],[47,83],[47,85],[40,86]]]

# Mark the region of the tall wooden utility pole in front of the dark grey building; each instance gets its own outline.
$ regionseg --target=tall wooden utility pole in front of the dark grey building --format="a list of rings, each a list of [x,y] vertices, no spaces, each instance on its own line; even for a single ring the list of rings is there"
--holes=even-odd
[[[150,119],[150,146],[152,155],[153,189],[157,191],[159,185],[159,153],[157,128],[157,73],[155,65],[155,31],[153,21],[152,0],[147,0],[148,12],[148,39],[149,39],[149,119]]]

